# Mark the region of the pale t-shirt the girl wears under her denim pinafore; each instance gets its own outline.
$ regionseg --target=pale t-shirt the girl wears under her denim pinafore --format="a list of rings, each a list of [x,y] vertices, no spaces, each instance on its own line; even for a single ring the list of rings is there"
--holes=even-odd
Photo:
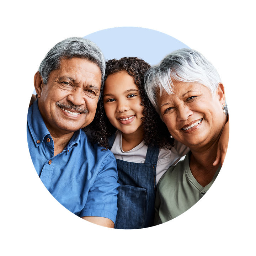
[[[170,166],[176,165],[177,162],[181,160],[182,156],[185,156],[190,151],[187,146],[177,142],[176,140],[174,145],[175,146],[171,150],[166,148],[160,149],[156,166],[156,183],[158,183],[162,175],[164,175]],[[120,130],[117,130],[114,143],[111,148],[116,159],[143,164],[146,160],[147,150],[148,146],[146,146],[143,141],[132,150],[123,151],[122,133]]]

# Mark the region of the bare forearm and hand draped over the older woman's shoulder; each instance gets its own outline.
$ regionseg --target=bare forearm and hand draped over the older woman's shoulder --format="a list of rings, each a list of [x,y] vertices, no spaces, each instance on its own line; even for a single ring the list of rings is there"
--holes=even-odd
[[[226,157],[226,153],[228,151],[229,146],[229,134],[230,134],[230,123],[229,123],[229,116],[228,116],[228,122],[226,122],[225,126],[222,130],[222,135],[220,136],[219,143],[218,143],[218,149],[217,149],[217,156],[213,163],[214,166],[223,165]]]

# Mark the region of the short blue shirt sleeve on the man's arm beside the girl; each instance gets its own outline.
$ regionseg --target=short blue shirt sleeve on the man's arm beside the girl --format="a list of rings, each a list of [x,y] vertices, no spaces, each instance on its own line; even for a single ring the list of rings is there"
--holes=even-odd
[[[110,151],[109,151],[110,152]],[[118,174],[116,159],[110,152],[102,161],[94,184],[89,190],[86,205],[79,217],[95,216],[111,219],[114,223],[117,214]]]

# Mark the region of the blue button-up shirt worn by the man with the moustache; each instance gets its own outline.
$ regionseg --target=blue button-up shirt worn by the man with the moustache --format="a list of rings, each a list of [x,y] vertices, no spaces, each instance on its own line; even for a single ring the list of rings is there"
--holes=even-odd
[[[27,145],[44,187],[70,212],[116,220],[117,167],[110,150],[92,145],[82,130],[74,133],[62,153],[54,156],[53,139],[38,109],[28,109]]]

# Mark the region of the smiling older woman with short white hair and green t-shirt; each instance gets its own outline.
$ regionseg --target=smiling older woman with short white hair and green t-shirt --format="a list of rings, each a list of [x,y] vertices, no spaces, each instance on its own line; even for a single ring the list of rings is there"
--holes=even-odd
[[[218,71],[193,49],[167,55],[146,74],[145,87],[171,138],[190,148],[186,158],[171,166],[159,181],[157,225],[186,212],[213,185],[223,164],[213,162],[228,122],[228,108]]]

